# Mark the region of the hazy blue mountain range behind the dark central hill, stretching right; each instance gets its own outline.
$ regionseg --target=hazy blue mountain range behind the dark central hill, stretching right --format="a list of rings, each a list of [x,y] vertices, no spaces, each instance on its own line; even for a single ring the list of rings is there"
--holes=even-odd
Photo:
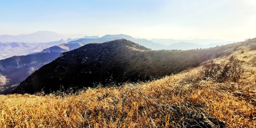
[[[124,35],[124,34],[115,34],[115,35],[105,35],[100,38],[80,38],[78,40],[70,41],[68,43],[73,43],[73,42],[75,43],[80,42],[83,44],[88,44],[91,42],[101,43],[101,42],[112,41],[114,39],[120,39],[120,38],[128,39],[142,46],[145,46],[147,48],[151,48],[153,50],[161,50],[161,49],[189,50],[189,49],[197,49],[197,48],[210,48],[210,47],[221,46],[221,45],[237,42],[237,41],[224,41],[221,39],[194,39],[194,40],[152,39],[151,41],[149,41],[147,39],[135,39],[131,36]],[[166,46],[167,44],[170,44],[170,45]]]

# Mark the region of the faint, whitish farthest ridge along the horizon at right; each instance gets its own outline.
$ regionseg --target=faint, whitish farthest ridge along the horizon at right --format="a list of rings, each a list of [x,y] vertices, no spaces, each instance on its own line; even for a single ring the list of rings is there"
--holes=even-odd
[[[229,44],[229,43],[234,43],[234,42],[239,42],[239,41],[224,41],[223,39],[155,39],[153,38],[151,41],[154,43],[159,43],[163,44],[165,46],[169,46],[174,43],[179,43],[179,42],[187,42],[187,43],[196,43],[196,44],[202,44],[202,45],[207,45],[210,43],[221,43],[221,44]]]

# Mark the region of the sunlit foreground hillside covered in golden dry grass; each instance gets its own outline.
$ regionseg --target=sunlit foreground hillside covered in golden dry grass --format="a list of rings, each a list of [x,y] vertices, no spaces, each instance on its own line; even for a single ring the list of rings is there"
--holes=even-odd
[[[0,127],[256,127],[253,42],[159,80],[0,95]]]

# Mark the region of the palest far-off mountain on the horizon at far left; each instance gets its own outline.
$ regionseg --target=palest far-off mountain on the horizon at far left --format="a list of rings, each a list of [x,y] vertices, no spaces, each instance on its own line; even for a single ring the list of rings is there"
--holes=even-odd
[[[45,43],[58,41],[59,39],[78,38],[82,34],[59,34],[49,31],[38,31],[31,34],[0,35],[0,42],[25,42],[25,43]]]

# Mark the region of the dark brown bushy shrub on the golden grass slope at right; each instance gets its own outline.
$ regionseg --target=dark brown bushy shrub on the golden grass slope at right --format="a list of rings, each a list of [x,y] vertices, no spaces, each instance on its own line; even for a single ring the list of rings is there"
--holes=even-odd
[[[201,71],[204,80],[214,80],[216,82],[226,80],[237,81],[243,73],[244,69],[242,68],[241,61],[234,59],[233,56],[228,62],[206,64]]]

